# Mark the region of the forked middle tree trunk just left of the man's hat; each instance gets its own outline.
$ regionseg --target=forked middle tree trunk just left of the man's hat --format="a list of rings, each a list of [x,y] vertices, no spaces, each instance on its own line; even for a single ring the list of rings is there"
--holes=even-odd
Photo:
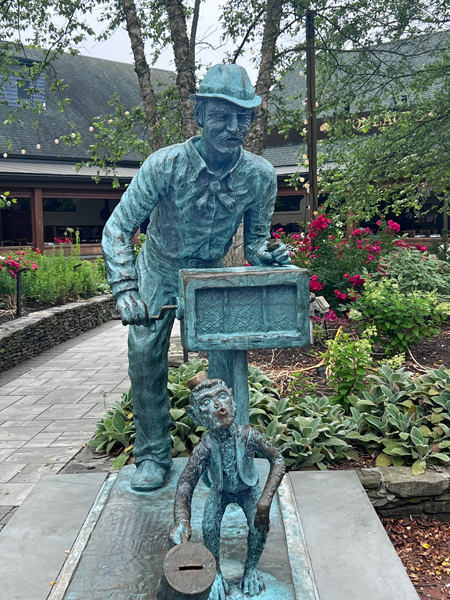
[[[195,94],[195,33],[199,15],[200,0],[196,0],[192,22],[191,40],[187,34],[186,14],[182,0],[164,0],[169,16],[170,34],[172,38],[175,67],[177,70],[177,86],[180,95],[181,131],[185,140],[198,134],[197,123],[192,114],[193,102],[189,100]]]

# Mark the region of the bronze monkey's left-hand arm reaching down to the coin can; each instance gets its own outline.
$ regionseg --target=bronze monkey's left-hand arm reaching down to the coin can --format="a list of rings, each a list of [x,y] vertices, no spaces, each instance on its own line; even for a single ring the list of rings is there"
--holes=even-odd
[[[200,442],[190,456],[188,464],[178,480],[173,508],[175,525],[182,522],[190,523],[191,521],[192,495],[200,477],[208,466],[210,453],[211,450],[206,444]]]

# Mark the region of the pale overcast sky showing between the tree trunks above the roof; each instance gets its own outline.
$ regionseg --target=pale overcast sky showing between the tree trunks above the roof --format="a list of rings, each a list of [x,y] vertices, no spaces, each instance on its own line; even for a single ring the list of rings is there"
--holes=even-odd
[[[220,44],[220,7],[216,0],[207,0],[201,4],[200,19],[197,31],[197,41],[208,35],[207,41],[214,47]],[[95,18],[88,20],[91,27],[95,30],[101,31],[101,24],[97,24]],[[146,44],[146,55],[149,63],[151,62],[151,44]],[[225,52],[234,49],[232,42],[228,42],[225,46],[217,48],[197,49],[198,58],[202,63],[213,65],[222,62]],[[255,50],[258,51],[259,46],[255,46]],[[80,53],[87,56],[94,56],[96,58],[105,58],[107,60],[116,60],[119,62],[132,63],[133,57],[131,54],[130,40],[125,29],[118,29],[114,35],[104,42],[96,42],[94,39],[87,40],[83,46],[79,48]],[[257,71],[250,61],[251,58],[250,49],[238,60],[238,63],[247,69],[250,79],[253,83],[256,83]],[[159,69],[175,70],[173,62],[173,54],[171,47],[167,47],[154,67]]]

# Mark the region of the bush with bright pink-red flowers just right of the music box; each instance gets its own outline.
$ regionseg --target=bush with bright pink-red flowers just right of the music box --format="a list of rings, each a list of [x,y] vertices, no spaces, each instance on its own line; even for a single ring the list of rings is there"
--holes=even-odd
[[[289,246],[295,265],[309,270],[310,290],[320,291],[333,309],[342,310],[342,303],[350,307],[358,299],[385,256],[410,247],[396,237],[399,230],[398,223],[380,220],[377,233],[369,227],[358,228],[345,240],[332,219],[318,215],[303,237],[298,233],[288,236],[282,229],[274,237]]]

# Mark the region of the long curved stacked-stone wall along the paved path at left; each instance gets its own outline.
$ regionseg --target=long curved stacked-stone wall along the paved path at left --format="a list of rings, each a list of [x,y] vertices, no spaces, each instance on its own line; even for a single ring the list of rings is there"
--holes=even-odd
[[[116,315],[108,294],[71,302],[0,325],[0,372],[93,329]]]

